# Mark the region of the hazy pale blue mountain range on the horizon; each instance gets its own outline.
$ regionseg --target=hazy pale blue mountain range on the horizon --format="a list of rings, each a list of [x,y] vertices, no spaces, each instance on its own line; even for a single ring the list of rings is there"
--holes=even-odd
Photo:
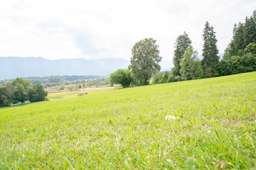
[[[121,58],[47,60],[42,57],[0,57],[0,80],[50,75],[108,76],[128,66],[129,61]]]

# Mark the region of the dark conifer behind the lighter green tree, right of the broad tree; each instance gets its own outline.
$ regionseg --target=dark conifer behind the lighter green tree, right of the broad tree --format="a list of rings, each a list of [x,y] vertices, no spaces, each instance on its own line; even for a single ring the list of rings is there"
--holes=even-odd
[[[176,38],[176,42],[174,45],[174,57],[173,57],[173,62],[174,62],[174,75],[180,76],[180,62],[181,59],[183,58],[183,55],[186,51],[186,48],[191,45],[191,40],[188,38],[188,34],[184,32],[182,35],[179,35],[178,38]]]

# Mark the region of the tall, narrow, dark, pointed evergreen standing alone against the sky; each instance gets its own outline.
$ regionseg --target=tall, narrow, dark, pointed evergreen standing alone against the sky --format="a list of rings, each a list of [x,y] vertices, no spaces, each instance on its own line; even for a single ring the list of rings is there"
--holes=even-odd
[[[215,69],[220,57],[218,57],[216,35],[213,30],[213,26],[210,26],[208,21],[206,21],[205,28],[203,29],[203,41],[202,64],[205,72],[208,73],[206,77],[211,77],[215,74]]]

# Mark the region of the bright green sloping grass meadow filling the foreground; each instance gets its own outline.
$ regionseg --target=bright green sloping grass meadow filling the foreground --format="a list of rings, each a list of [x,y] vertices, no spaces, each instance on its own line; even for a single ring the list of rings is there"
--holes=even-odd
[[[0,169],[256,169],[255,147],[256,72],[0,108]]]

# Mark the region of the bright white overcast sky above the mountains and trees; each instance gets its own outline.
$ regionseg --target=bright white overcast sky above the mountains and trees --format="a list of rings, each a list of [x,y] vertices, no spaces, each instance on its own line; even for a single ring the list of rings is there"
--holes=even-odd
[[[154,38],[167,62],[184,31],[202,53],[206,21],[223,53],[255,8],[255,0],[1,0],[0,56],[130,60],[135,42]]]

